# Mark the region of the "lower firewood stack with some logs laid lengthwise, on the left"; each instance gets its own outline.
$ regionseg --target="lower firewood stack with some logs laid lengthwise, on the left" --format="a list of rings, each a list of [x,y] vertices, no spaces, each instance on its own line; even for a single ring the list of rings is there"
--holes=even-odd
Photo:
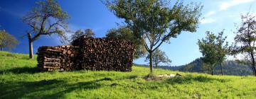
[[[38,48],[38,67],[43,71],[71,71],[79,69],[78,46],[63,45]]]

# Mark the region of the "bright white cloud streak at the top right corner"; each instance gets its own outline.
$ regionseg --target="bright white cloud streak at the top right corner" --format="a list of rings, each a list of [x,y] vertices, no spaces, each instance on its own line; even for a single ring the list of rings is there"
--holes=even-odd
[[[250,3],[252,1],[255,1],[255,0],[229,0],[229,1],[225,1],[225,2],[222,2],[220,4],[220,11],[224,11],[232,6],[237,6],[239,4],[246,4],[246,3]]]

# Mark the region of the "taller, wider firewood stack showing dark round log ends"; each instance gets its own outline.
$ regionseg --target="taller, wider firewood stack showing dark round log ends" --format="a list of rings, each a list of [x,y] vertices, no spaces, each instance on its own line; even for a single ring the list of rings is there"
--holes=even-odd
[[[79,37],[72,42],[80,47],[82,69],[132,71],[134,47],[132,42],[112,38]]]

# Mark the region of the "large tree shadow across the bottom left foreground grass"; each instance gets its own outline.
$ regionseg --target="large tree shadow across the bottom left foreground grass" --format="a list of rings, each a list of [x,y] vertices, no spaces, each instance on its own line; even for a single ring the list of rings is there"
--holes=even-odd
[[[0,98],[61,98],[77,89],[100,88],[98,81],[110,81],[110,78],[79,83],[68,83],[57,79],[0,83]]]

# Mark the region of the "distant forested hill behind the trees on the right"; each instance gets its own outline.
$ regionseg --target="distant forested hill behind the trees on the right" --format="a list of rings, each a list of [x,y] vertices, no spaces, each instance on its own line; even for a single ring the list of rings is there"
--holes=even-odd
[[[146,66],[146,65],[144,65]],[[182,66],[159,66],[161,69],[171,69],[173,71],[188,71],[188,72],[198,72],[198,73],[207,73],[202,69],[203,60],[198,58],[195,59],[193,62],[182,65]],[[252,69],[250,66],[238,64],[235,61],[226,61],[223,63],[223,73],[225,75],[239,75],[239,76],[246,76],[252,75]],[[220,66],[216,66],[214,70],[214,74],[221,74]]]

